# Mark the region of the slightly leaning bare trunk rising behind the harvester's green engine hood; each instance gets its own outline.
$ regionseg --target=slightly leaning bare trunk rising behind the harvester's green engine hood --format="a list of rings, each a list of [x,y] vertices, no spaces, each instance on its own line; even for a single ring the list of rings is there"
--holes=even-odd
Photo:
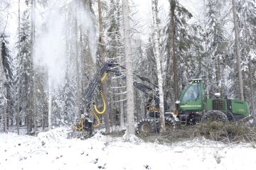
[[[241,56],[240,56],[240,42],[238,35],[238,21],[235,10],[235,0],[232,0],[232,9],[233,9],[233,19],[234,19],[234,28],[235,28],[235,50],[237,53],[237,64],[238,64],[238,84],[239,84],[239,98],[244,101],[243,93],[243,82],[242,82],[242,70],[241,70]]]

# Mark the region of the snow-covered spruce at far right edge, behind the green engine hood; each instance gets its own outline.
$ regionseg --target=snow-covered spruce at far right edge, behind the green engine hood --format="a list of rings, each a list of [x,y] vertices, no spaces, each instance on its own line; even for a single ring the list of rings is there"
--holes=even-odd
[[[240,39],[240,51],[242,55],[242,70],[249,79],[244,79],[245,100],[251,104],[252,113],[255,113],[255,93],[253,81],[255,81],[255,1],[237,1],[238,31]],[[249,92],[250,91],[250,92]],[[250,96],[250,97],[249,97]]]

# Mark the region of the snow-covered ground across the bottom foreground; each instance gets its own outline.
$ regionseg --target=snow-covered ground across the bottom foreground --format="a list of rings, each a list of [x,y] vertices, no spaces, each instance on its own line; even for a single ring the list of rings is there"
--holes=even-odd
[[[160,145],[125,142],[122,137],[97,133],[87,140],[66,139],[68,130],[56,128],[38,137],[0,133],[0,169],[255,169],[251,144],[224,145],[192,140]]]

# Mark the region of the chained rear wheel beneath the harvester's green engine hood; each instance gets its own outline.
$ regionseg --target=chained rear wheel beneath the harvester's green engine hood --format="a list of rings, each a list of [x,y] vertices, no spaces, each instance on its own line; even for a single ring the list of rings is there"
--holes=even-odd
[[[217,120],[217,121],[226,122],[228,121],[228,117],[221,111],[213,110],[213,111],[206,112],[201,118],[201,122],[206,122],[208,120]]]

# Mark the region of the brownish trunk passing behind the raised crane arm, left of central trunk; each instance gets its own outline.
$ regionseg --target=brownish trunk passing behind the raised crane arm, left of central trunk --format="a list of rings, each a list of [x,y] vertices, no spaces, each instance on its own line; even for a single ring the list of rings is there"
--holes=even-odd
[[[99,35],[100,57],[101,57],[102,64],[104,64],[107,61],[107,59],[105,56],[105,47],[104,47],[104,38],[103,38],[102,6],[101,6],[100,0],[97,0],[97,4],[98,4],[98,11],[99,11],[99,27],[100,27],[100,29],[99,29],[99,31],[100,31],[100,35]],[[108,96],[107,82],[103,81],[102,86],[103,86],[103,94],[107,98],[107,96]],[[105,121],[106,133],[110,133],[110,109],[109,109],[108,104],[107,104],[106,112],[104,114],[104,121]]]

